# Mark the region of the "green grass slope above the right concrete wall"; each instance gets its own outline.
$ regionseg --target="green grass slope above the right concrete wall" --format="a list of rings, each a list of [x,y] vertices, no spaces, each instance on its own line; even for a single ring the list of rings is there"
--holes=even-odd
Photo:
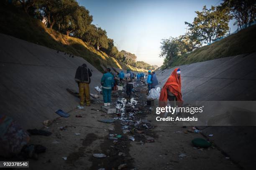
[[[252,52],[256,52],[256,25],[241,30],[211,45],[198,48],[189,54],[184,54],[169,67]]]

